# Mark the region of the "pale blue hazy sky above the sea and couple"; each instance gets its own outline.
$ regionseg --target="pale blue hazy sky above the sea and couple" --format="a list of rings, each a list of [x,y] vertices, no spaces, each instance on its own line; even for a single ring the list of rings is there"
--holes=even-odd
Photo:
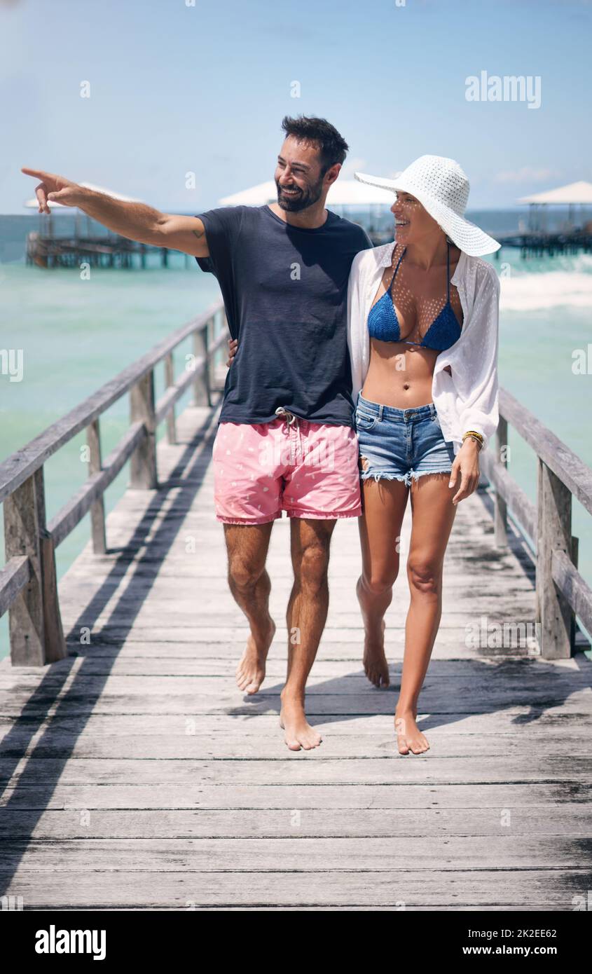
[[[592,179],[591,40],[592,0],[0,0],[0,213],[21,166],[199,212],[273,178],[285,114],[341,131],[344,176],[434,153],[513,206]],[[467,100],[504,76],[522,100]]]

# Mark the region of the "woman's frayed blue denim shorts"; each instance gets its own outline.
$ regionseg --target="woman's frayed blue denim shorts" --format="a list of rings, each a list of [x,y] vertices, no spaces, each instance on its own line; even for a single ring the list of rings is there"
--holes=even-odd
[[[423,473],[450,473],[455,459],[452,440],[444,439],[433,402],[411,409],[383,406],[358,394],[355,430],[360,477],[402,480],[410,486]]]

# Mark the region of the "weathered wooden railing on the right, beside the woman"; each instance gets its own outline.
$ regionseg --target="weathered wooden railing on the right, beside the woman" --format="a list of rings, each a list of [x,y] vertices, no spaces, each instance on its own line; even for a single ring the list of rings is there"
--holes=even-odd
[[[507,471],[508,424],[533,448],[537,460],[536,505]],[[496,490],[495,539],[507,544],[507,515],[531,540],[536,557],[536,623],[540,655],[572,655],[575,616],[592,634],[592,589],[577,571],[572,536],[572,497],[592,513],[592,469],[513,395],[499,391],[496,446],[481,468]]]

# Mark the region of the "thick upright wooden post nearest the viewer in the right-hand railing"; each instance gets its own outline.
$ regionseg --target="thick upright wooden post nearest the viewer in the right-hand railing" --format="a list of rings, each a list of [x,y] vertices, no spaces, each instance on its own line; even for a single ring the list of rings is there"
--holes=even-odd
[[[554,549],[572,557],[572,494],[538,458],[536,537],[536,621],[543,659],[571,656],[573,611],[551,577]]]

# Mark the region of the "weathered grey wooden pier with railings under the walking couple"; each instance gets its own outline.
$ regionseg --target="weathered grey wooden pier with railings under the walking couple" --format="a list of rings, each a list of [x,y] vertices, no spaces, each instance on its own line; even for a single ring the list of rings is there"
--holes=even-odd
[[[507,423],[532,437],[537,504],[492,445],[447,551],[420,700],[431,747],[419,757],[397,754],[392,729],[405,573],[388,611],[392,684],[378,691],[360,663],[357,524],[341,521],[308,693],[323,743],[289,752],[277,724],[286,519],[268,564],[268,676],[251,697],[234,683],[246,628],[213,514],[220,393],[209,375],[225,340],[212,337],[213,315],[0,466],[12,641],[0,665],[1,895],[24,910],[576,909],[592,881],[592,661],[574,608],[588,626],[592,601],[570,511],[573,495],[590,511],[592,471],[502,393],[499,441]],[[188,334],[195,370],[175,379],[172,352]],[[167,392],[155,403],[161,362]],[[190,384],[195,402],[175,418]],[[125,393],[129,433],[101,462],[100,413]],[[85,427],[88,487],[46,521],[44,461]],[[129,489],[105,520],[102,494],[128,460]],[[92,542],[56,585],[56,544],[89,511]],[[409,531],[408,509],[403,551]],[[499,642],[506,623],[514,635]]]

